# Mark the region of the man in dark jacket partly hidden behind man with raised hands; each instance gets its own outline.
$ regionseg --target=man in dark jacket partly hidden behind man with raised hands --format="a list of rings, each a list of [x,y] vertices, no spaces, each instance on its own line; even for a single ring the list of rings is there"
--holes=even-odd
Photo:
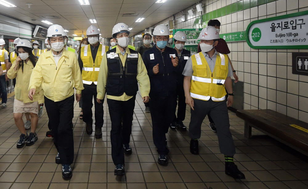
[[[177,109],[177,117],[176,115],[174,116],[174,120],[170,125],[170,129],[175,130],[177,128],[180,131],[186,131],[187,129],[183,124],[186,113],[186,103],[185,103],[185,93],[183,88],[184,75],[182,73],[186,65],[186,62],[190,57],[190,51],[183,49],[187,39],[187,35],[183,31],[177,31],[173,35],[173,38],[175,44],[174,49],[176,50],[177,55],[179,57],[179,65],[177,66],[178,73],[176,74],[176,95],[179,97],[179,102],[178,102],[179,107]],[[176,104],[174,108],[176,110]]]

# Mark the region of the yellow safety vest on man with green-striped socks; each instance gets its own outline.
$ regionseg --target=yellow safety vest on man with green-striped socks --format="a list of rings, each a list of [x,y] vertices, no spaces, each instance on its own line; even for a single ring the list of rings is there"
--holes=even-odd
[[[190,96],[194,99],[224,101],[226,90],[225,80],[228,76],[228,56],[217,54],[213,73],[202,52],[192,56],[193,76],[191,79]]]

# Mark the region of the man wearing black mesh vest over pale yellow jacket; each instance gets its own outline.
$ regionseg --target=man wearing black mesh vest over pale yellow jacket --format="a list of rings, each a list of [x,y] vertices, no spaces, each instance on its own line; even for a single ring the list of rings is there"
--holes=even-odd
[[[129,140],[138,83],[143,102],[149,101],[150,92],[147,70],[141,55],[128,48],[128,35],[126,24],[118,23],[113,27],[112,37],[116,38],[117,46],[103,55],[97,80],[97,102],[102,103],[105,92],[107,93],[111,119],[111,156],[115,164],[115,175],[125,174],[124,153],[132,154]]]

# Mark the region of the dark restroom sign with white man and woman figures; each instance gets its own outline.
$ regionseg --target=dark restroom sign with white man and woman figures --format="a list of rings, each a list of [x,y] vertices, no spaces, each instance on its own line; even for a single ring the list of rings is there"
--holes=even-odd
[[[292,53],[292,74],[308,75],[308,53]]]

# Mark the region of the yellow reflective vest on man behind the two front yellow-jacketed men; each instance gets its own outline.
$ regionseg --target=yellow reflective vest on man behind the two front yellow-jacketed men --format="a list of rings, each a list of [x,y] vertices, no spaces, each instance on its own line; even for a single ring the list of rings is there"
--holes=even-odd
[[[103,55],[109,50],[109,47],[99,44],[99,48],[95,57],[95,62],[93,62],[90,48],[90,45],[86,45],[81,47],[80,50],[80,58],[83,62],[83,68],[81,72],[82,82],[87,85],[91,85],[92,82],[94,82],[94,84],[97,85],[99,66],[102,61]]]

